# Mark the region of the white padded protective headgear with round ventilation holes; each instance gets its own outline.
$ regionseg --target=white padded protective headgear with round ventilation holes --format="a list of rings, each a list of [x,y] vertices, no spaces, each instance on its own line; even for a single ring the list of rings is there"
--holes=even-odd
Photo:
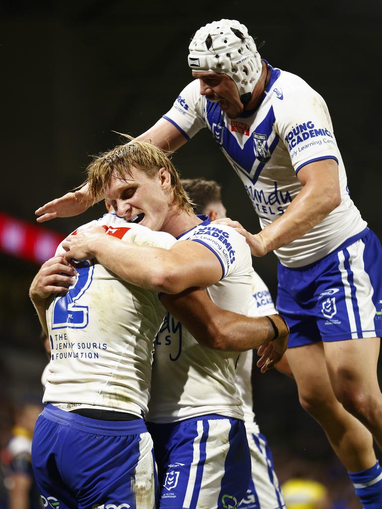
[[[241,32],[241,40],[235,32]],[[195,71],[228,74],[236,83],[241,102],[251,99],[262,65],[255,41],[236,19],[221,19],[202,26],[190,42],[188,65]]]

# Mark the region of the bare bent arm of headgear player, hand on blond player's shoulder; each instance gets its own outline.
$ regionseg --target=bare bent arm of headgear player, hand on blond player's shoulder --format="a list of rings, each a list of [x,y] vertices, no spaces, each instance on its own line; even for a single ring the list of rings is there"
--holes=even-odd
[[[303,166],[297,177],[304,187],[285,213],[268,224],[261,233],[252,235],[231,219],[217,219],[215,222],[228,224],[244,235],[253,256],[264,256],[301,238],[340,205],[338,164],[334,159],[314,161]]]

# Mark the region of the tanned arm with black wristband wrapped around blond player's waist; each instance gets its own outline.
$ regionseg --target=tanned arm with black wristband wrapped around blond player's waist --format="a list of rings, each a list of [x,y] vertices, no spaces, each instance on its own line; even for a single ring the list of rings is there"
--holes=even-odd
[[[289,330],[279,315],[270,317],[275,331],[267,317],[251,318],[224,310],[206,292],[195,288],[177,295],[163,294],[161,302],[201,345],[229,352],[266,345],[265,355],[258,363],[262,372],[279,362],[287,348]]]

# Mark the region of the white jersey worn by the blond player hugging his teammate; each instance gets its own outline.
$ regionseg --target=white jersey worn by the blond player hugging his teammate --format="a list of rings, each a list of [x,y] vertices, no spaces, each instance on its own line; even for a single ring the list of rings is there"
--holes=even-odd
[[[207,218],[179,240],[201,242],[216,255],[223,275],[207,288],[208,295],[223,309],[247,315],[252,260],[244,237],[226,225],[211,224]],[[211,413],[243,419],[235,374],[238,356],[237,352],[199,345],[168,313],[155,340],[147,419],[175,422]]]

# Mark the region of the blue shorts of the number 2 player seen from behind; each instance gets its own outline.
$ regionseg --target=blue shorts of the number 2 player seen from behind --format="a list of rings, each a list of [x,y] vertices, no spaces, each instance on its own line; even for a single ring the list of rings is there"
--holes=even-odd
[[[47,405],[32,464],[44,507],[154,509],[157,475],[143,419],[105,421]]]

